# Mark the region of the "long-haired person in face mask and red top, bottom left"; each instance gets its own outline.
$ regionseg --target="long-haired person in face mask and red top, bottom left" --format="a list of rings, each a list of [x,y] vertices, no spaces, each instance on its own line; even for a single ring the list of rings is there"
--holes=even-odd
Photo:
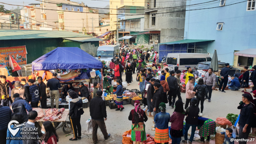
[[[57,144],[59,141],[59,137],[52,122],[43,122],[41,132],[44,134],[42,144]]]

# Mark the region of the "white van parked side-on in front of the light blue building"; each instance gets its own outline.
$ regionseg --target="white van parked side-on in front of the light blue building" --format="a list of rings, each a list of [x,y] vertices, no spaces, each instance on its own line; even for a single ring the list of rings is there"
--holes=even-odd
[[[198,53],[169,53],[167,54],[166,64],[169,71],[178,67],[179,70],[187,70],[187,67],[194,68],[199,62],[211,61],[208,54]]]

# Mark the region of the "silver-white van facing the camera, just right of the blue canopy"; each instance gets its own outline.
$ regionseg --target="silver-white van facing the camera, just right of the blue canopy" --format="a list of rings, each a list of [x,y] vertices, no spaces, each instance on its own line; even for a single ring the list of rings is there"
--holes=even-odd
[[[109,63],[111,62],[111,59],[115,59],[115,56],[119,55],[119,52],[120,49],[117,45],[104,45],[98,47],[95,57],[97,59],[100,55],[101,61],[105,61],[107,68],[110,68]]]

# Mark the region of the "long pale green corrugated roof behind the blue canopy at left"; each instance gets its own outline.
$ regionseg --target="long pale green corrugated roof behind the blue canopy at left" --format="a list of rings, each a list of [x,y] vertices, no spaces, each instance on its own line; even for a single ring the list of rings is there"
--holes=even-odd
[[[43,39],[64,37],[92,37],[79,33],[59,30],[0,30],[0,40]]]

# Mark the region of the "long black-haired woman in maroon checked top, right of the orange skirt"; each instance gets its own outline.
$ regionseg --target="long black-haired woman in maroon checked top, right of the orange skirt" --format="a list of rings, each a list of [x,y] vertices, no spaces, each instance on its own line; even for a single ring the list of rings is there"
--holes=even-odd
[[[181,100],[176,101],[175,103],[175,110],[173,115],[171,115],[170,122],[171,122],[171,143],[172,144],[180,144],[181,137],[183,136],[183,119],[185,117],[185,111],[183,109],[183,103]]]

